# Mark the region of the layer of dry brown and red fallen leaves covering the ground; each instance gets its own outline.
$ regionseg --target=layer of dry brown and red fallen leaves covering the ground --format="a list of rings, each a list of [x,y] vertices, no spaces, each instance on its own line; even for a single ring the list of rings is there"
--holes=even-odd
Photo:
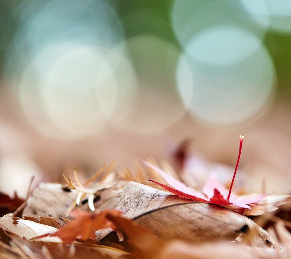
[[[242,140],[243,137],[240,138],[239,156]],[[236,258],[260,258],[262,254],[266,255],[263,258],[283,258],[283,254],[278,252],[280,250],[273,250],[279,245],[266,230],[248,217],[219,206],[248,205],[251,210],[247,206],[240,207],[247,208],[245,212],[254,211],[255,205],[252,204],[269,196],[262,197],[263,193],[254,198],[237,197],[231,193],[235,174],[229,191],[215,176],[211,176],[202,192],[193,193],[184,183],[158,167],[145,161],[142,163],[155,170],[156,175],[173,188],[163,187],[180,193],[183,190],[182,195],[124,180],[111,172],[114,162],[107,170],[105,164],[85,183],[80,182],[75,169],[76,183],[70,177],[64,177],[66,186],[42,183],[27,200],[23,218],[8,214],[0,219],[3,229],[0,230],[0,255],[9,254],[11,258],[66,258],[68,255],[82,258],[90,252],[92,256],[106,258],[233,258],[238,251]],[[93,183],[96,178],[99,182]],[[276,201],[273,207],[284,203],[282,197],[273,200]],[[76,206],[77,210],[74,209]],[[264,213],[265,210],[257,211]],[[75,218],[68,219],[68,212],[75,214]],[[284,227],[276,227],[275,233],[279,231],[281,235],[278,242],[283,250],[290,249],[290,238],[286,235],[289,232],[285,233]],[[48,228],[50,233],[44,233]],[[35,239],[36,236],[40,238]],[[42,238],[46,236],[60,237],[59,244],[53,240],[44,242]],[[94,238],[95,243],[90,238]],[[101,245],[96,244],[99,242]]]

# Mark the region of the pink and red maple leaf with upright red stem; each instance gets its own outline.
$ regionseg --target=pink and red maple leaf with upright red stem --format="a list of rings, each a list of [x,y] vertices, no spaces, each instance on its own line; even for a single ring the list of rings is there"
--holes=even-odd
[[[234,170],[229,190],[227,190],[221,183],[219,183],[218,180],[216,179],[216,176],[212,174],[210,175],[207,183],[202,188],[202,192],[198,192],[193,188],[186,186],[186,184],[180,182],[176,178],[170,176],[165,171],[159,169],[158,167],[152,165],[151,163],[142,160],[140,160],[140,162],[145,166],[155,170],[157,173],[159,173],[161,177],[172,187],[166,186],[162,183],[156,182],[151,179],[148,179],[149,181],[158,184],[167,191],[176,194],[180,197],[198,202],[207,202],[217,205],[235,205],[237,207],[250,209],[251,207],[249,205],[254,205],[254,203],[261,200],[264,196],[266,196],[266,194],[259,194],[240,198],[235,193],[231,193],[234,178],[236,176],[236,170],[239,164],[240,154],[242,151],[243,138],[244,137],[242,135],[239,136],[239,155],[237,158],[236,168]]]

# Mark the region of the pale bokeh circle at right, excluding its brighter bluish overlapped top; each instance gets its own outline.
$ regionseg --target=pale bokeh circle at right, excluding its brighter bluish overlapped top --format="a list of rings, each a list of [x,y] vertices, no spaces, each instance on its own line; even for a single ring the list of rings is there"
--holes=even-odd
[[[186,49],[194,48],[186,46]],[[193,56],[189,52],[181,55],[177,86],[195,118],[219,125],[242,123],[259,114],[268,103],[275,72],[263,45],[231,66],[202,63]]]

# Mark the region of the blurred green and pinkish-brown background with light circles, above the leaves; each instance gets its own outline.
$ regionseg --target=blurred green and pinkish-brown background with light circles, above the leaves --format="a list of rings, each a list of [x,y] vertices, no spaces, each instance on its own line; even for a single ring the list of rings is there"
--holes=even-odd
[[[290,193],[288,0],[0,0],[0,191],[190,153]]]

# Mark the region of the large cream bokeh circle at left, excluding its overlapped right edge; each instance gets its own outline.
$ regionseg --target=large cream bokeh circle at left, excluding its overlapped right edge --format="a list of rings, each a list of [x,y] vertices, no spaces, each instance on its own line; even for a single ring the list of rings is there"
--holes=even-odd
[[[95,95],[101,51],[70,42],[51,45],[28,65],[19,88],[20,101],[42,133],[78,138],[102,129],[105,119]]]

